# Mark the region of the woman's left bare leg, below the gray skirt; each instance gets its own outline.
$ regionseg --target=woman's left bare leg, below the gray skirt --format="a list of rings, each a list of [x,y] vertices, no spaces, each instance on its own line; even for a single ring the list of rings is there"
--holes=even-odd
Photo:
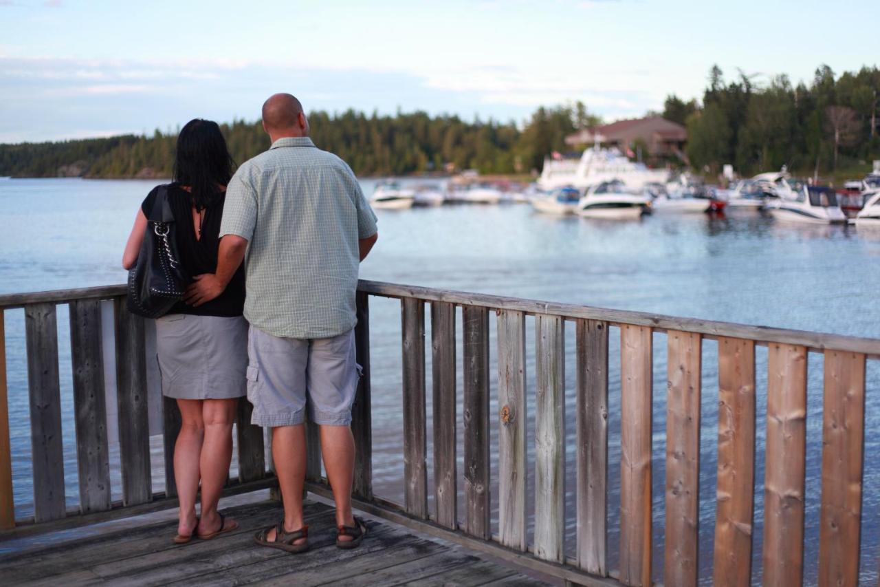
[[[180,408],[180,434],[174,443],[174,480],[180,500],[180,536],[195,531],[195,495],[199,491],[199,457],[205,425],[202,420],[201,399],[178,399]]]

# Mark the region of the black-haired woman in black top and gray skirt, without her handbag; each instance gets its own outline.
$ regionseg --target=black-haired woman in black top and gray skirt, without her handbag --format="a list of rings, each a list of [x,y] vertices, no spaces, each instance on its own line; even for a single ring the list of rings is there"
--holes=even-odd
[[[190,276],[216,271],[220,220],[232,160],[216,123],[195,119],[177,139],[168,201],[177,227],[180,261]],[[128,237],[122,266],[133,267],[158,193],[150,191]],[[217,512],[232,454],[232,422],[246,395],[247,323],[241,268],[223,294],[198,308],[179,301],[156,321],[162,393],[177,399],[182,423],[174,445],[180,522],[174,542],[211,539],[238,524]],[[195,496],[202,481],[202,516]]]

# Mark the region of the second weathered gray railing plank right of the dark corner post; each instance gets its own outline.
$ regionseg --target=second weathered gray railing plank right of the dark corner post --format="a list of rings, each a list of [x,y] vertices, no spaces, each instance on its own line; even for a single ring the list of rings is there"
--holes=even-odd
[[[456,458],[455,306],[431,304],[431,375],[434,396],[434,504],[436,523],[458,526]]]

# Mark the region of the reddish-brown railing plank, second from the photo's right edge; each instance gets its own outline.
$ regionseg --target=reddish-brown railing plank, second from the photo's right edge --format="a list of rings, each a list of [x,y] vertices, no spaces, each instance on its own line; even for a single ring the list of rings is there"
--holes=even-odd
[[[767,363],[764,584],[803,584],[807,349],[772,344]]]

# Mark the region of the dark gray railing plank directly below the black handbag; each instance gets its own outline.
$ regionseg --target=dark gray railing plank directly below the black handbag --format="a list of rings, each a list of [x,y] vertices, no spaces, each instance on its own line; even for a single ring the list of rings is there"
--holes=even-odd
[[[152,495],[143,318],[128,312],[125,298],[114,301],[114,316],[122,502],[135,505]]]

